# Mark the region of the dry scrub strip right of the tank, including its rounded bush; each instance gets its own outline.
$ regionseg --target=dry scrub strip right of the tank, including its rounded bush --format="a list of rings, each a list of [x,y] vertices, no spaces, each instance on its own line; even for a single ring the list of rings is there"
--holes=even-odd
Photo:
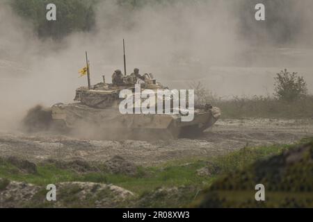
[[[274,78],[274,96],[234,96],[221,99],[209,92],[202,83],[192,83],[197,99],[195,103],[211,103],[220,108],[222,119],[277,118],[312,119],[313,95],[307,94],[307,83],[297,73],[290,74],[287,69]]]

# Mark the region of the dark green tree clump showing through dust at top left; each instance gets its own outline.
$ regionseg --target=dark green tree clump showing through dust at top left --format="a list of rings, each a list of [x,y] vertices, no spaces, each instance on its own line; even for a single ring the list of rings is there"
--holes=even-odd
[[[39,37],[61,39],[73,31],[90,31],[95,26],[95,0],[54,0],[56,22],[47,21],[49,0],[13,0],[10,4],[15,13],[28,19]]]

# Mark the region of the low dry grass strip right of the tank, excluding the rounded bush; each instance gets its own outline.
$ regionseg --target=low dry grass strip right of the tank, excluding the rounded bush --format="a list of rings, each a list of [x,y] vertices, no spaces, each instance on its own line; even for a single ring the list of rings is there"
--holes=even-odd
[[[267,96],[233,96],[223,99],[210,92],[202,83],[191,83],[197,99],[195,104],[211,103],[220,108],[222,119],[274,118],[274,119],[313,119],[313,95],[307,94],[294,101],[284,101],[268,94]]]

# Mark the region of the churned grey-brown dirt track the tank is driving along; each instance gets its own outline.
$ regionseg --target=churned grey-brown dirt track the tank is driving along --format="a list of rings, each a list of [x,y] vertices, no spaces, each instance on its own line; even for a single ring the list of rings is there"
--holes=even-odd
[[[313,136],[313,120],[219,120],[198,139],[168,141],[95,141],[63,135],[0,133],[0,155],[45,159],[105,161],[120,155],[136,164],[151,165],[186,157],[220,155],[243,146],[289,144]]]

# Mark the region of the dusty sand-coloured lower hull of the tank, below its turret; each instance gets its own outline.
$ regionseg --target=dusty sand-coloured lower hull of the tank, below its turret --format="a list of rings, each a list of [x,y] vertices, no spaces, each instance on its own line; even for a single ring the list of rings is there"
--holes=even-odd
[[[108,139],[171,139],[196,136],[214,125],[218,108],[195,110],[193,121],[180,114],[120,114],[117,107],[90,108],[81,103],[58,103],[51,108],[54,122],[86,137]]]

